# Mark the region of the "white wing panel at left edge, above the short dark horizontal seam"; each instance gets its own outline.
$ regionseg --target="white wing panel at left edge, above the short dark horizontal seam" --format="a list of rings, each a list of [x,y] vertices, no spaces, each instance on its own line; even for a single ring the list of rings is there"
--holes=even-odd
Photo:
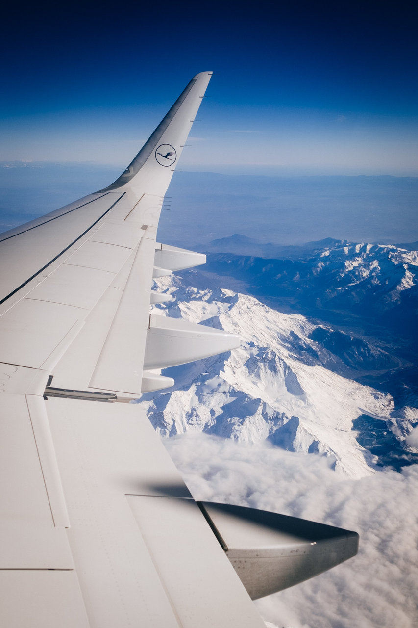
[[[7,513],[0,517],[0,570],[73,569],[65,530],[54,526],[53,511],[57,524],[66,521],[59,475],[49,455],[40,462],[47,447],[42,416],[23,395],[2,395],[0,411],[0,503]]]

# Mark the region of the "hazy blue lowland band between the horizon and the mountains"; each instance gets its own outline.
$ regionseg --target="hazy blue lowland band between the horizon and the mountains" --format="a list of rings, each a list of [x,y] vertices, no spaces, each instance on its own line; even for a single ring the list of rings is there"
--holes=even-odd
[[[117,166],[0,164],[0,228],[8,230],[109,185]],[[158,238],[205,247],[235,233],[259,242],[306,244],[327,237],[399,244],[418,240],[418,178],[269,176],[178,171]]]

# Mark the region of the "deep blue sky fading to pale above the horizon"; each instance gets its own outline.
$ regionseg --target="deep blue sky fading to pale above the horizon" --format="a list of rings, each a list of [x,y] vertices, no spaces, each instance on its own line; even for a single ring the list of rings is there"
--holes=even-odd
[[[412,3],[144,4],[7,9],[0,161],[124,167],[213,70],[182,168],[417,175]]]

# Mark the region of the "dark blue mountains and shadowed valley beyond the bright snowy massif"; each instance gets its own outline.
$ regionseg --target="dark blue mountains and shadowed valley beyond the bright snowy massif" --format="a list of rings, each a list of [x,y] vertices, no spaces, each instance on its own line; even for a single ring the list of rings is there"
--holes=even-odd
[[[275,246],[238,235],[213,246],[228,241],[249,249]],[[331,238],[276,248],[282,256],[270,259],[210,252],[202,270],[183,276],[196,288],[225,286],[279,311],[331,323],[333,329],[318,327],[311,339],[338,355],[339,372],[342,364],[358,371],[351,377],[392,394],[397,403],[416,399],[418,252]],[[336,364],[326,366],[337,369]]]

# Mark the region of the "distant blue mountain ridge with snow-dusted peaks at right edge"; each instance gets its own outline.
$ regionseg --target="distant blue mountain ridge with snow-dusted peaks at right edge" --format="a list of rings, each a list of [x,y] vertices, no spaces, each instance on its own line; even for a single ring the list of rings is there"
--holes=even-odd
[[[269,252],[272,245],[265,247]],[[232,276],[257,298],[288,303],[328,322],[383,326],[416,349],[417,251],[328,238],[304,247],[278,247],[280,252],[275,259],[210,254],[205,272]]]

